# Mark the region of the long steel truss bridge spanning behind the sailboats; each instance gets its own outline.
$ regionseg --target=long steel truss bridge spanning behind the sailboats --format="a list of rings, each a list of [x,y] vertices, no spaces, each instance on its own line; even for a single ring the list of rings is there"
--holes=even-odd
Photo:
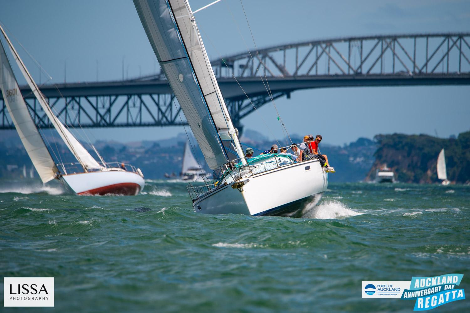
[[[313,40],[246,51],[211,64],[234,125],[241,128],[243,117],[255,108],[300,89],[469,85],[470,33]],[[40,89],[70,127],[187,125],[163,74]],[[52,127],[31,89],[25,86],[21,92],[36,124]],[[0,129],[13,128],[0,98]]]

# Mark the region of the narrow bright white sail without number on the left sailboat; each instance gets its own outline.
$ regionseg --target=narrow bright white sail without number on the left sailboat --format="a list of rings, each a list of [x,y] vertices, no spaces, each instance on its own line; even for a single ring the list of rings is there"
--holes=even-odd
[[[13,57],[15,58],[15,61],[18,64],[18,67],[23,73],[24,78],[28,82],[28,85],[30,86],[32,92],[38,99],[39,104],[41,105],[42,109],[46,113],[49,120],[54,125],[59,135],[62,137],[62,140],[65,142],[67,147],[73,153],[75,158],[78,160],[78,162],[80,162],[80,164],[84,167],[84,169],[101,169],[102,166],[100,166],[100,164],[98,164],[98,162],[94,160],[91,154],[88,153],[88,151],[86,151],[83,145],[78,142],[78,140],[71,134],[71,132],[67,128],[65,128],[62,122],[54,115],[51,108],[49,107],[49,104],[47,104],[46,98],[39,91],[38,86],[36,85],[30,73],[26,69],[26,66],[24,66],[23,61],[20,59],[18,53],[16,52],[16,49],[13,47],[10,40],[8,39],[7,34],[3,31],[3,29],[1,29],[1,32],[5,36],[5,39],[8,42],[10,51]]]

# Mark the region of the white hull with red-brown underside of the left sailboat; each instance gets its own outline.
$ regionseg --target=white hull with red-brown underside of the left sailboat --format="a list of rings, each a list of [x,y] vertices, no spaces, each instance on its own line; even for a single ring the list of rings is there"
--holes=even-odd
[[[79,195],[136,195],[145,186],[140,175],[118,170],[63,175],[61,179]]]

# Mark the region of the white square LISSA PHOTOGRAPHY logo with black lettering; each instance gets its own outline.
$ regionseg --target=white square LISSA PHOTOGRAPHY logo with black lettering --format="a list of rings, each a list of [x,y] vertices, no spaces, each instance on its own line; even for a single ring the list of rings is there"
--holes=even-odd
[[[54,306],[54,277],[4,277],[3,306]]]

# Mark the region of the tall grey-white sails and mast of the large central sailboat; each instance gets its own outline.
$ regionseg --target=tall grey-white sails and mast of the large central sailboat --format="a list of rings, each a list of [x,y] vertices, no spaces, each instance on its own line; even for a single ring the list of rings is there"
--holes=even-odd
[[[134,0],[134,4],[209,167],[217,169],[243,157],[188,1]]]

